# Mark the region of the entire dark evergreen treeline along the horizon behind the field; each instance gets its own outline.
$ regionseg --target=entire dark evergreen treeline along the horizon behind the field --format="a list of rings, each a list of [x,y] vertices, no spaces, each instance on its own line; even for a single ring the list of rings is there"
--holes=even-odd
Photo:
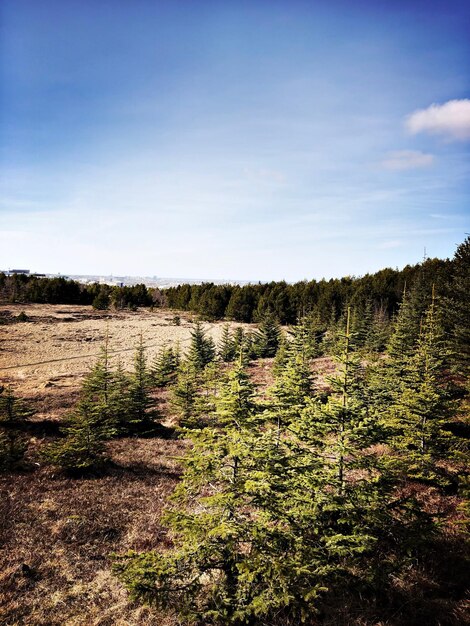
[[[47,304],[91,304],[97,309],[168,306],[191,311],[205,320],[230,319],[259,322],[266,316],[281,324],[315,314],[326,327],[338,322],[348,306],[359,316],[386,320],[397,312],[405,285],[430,293],[434,284],[444,292],[455,273],[458,259],[428,259],[404,269],[386,268],[365,276],[285,281],[249,285],[183,284],[168,289],[151,289],[144,284],[132,287],[82,285],[65,278],[41,278],[0,274],[0,301]]]

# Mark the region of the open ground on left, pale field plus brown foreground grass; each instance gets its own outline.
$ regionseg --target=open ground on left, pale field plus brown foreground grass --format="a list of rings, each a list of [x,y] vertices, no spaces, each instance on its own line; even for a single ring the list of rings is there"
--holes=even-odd
[[[75,480],[54,474],[38,452],[57,436],[58,420],[76,401],[106,334],[115,357],[130,369],[141,333],[149,360],[165,344],[180,342],[184,350],[191,317],[176,326],[174,313],[159,310],[108,313],[67,305],[7,305],[0,317],[21,311],[27,322],[0,326],[0,382],[11,383],[36,413],[28,424],[29,469],[0,476],[0,624],[174,623],[129,604],[109,555],[165,543],[159,518],[186,444],[112,441],[104,473]],[[217,341],[222,325],[205,328]]]

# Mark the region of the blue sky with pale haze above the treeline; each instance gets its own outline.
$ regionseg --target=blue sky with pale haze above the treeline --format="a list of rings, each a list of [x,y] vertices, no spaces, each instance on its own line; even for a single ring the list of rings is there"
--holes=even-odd
[[[0,268],[245,280],[452,256],[470,5],[3,0]]]

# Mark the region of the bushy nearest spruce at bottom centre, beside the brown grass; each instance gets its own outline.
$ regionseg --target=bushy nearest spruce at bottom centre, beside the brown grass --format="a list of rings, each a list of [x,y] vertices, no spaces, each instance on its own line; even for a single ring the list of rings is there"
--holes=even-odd
[[[132,595],[178,607],[197,623],[270,623],[309,617],[318,563],[284,515],[284,449],[257,428],[241,361],[220,393],[219,424],[191,433],[193,446],[166,515],[174,547],[128,553],[115,571]],[[313,542],[311,543],[313,546]]]

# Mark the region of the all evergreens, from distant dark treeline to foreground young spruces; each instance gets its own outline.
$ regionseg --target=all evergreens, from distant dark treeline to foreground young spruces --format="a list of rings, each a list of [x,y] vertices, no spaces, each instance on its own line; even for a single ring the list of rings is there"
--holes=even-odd
[[[105,557],[113,584],[153,611],[136,623],[469,619],[469,238],[450,261],[362,278],[156,294],[2,276],[0,289],[7,301],[198,316],[188,346],[153,360],[141,336],[130,371],[106,338],[67,419],[34,457],[32,409],[10,385],[0,389],[0,467],[11,481],[46,471],[56,489],[83,482],[93,492],[118,471],[113,445],[132,457],[140,441],[184,442],[153,540],[123,550],[117,539]],[[208,319],[254,324],[227,323],[216,344]],[[331,365],[326,375],[319,361]],[[70,550],[79,536],[68,536]],[[21,584],[42,584],[40,567],[22,575]],[[89,623],[112,623],[100,619]],[[18,610],[5,623],[28,622]]]

